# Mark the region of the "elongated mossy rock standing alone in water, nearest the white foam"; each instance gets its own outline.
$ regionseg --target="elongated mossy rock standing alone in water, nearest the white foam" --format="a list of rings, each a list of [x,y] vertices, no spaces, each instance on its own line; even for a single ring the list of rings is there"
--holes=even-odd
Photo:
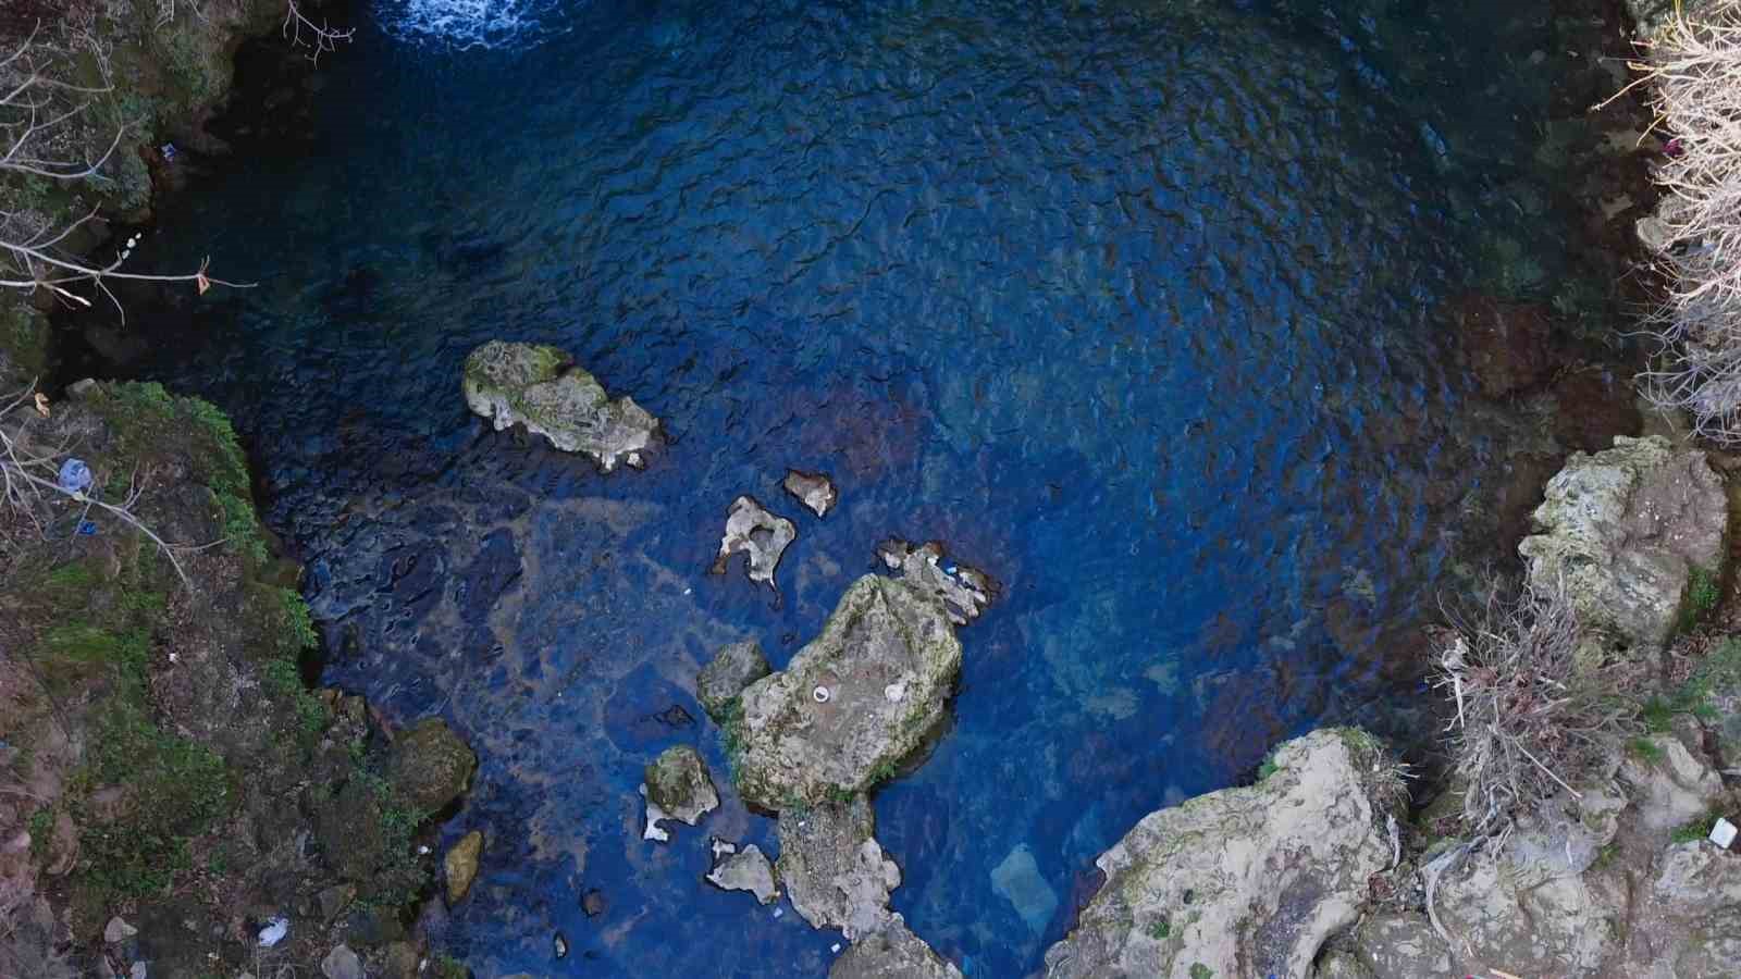
[[[658,418],[604,385],[559,347],[484,343],[465,359],[465,402],[496,430],[526,425],[566,453],[583,453],[609,472],[639,469],[658,444]]]

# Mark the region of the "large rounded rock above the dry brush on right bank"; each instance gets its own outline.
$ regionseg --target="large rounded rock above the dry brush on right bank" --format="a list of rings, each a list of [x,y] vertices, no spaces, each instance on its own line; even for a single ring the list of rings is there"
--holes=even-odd
[[[1518,545],[1530,585],[1563,587],[1586,627],[1654,650],[1682,624],[1694,575],[1720,577],[1729,509],[1704,453],[1619,435],[1567,460],[1534,523]]]

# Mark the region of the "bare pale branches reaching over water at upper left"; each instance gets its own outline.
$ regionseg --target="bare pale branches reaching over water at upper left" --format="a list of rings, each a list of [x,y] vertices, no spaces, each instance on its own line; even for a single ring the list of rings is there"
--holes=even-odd
[[[82,59],[94,64],[96,84],[70,80]],[[108,280],[192,282],[200,293],[214,284],[247,287],[209,275],[209,260],[172,275],[122,272],[131,249],[120,249],[106,263],[84,260],[66,242],[97,218],[97,209],[59,219],[40,199],[19,190],[35,181],[77,193],[110,179],[104,169],[143,124],[124,120],[103,127],[92,108],[113,92],[110,51],[80,17],[68,16],[52,30],[38,21],[16,47],[0,52],[0,178],[14,190],[0,199],[0,289],[47,291],[70,305],[91,307],[87,296],[71,289],[89,284],[125,319]]]

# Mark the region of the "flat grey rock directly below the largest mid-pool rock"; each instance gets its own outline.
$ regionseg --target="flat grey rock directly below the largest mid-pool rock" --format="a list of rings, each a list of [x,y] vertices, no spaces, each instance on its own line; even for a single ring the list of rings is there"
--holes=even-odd
[[[864,796],[780,815],[780,881],[811,927],[841,928],[851,941],[890,922],[888,895],[900,887],[900,868],[874,831]]]

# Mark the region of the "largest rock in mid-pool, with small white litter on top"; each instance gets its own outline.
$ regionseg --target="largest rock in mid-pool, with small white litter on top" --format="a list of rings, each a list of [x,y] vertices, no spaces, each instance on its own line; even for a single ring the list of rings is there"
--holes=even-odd
[[[738,794],[778,812],[870,789],[942,721],[959,671],[940,603],[907,582],[858,578],[822,634],[738,699]]]

